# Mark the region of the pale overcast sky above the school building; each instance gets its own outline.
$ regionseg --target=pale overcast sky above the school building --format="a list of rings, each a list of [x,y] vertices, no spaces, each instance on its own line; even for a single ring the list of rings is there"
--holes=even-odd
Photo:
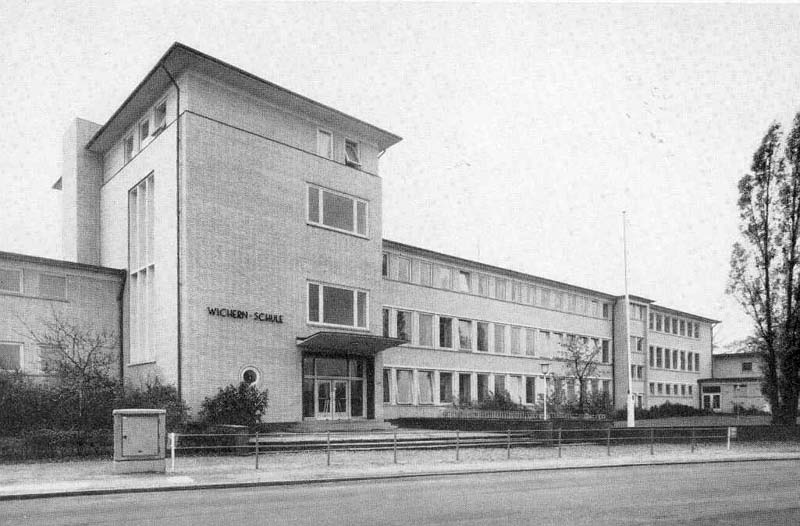
[[[800,110],[798,6],[54,4],[3,8],[0,250],[61,256],[64,130],[180,41],[401,135],[385,238],[622,294],[627,210],[631,293],[749,331],[736,181]]]

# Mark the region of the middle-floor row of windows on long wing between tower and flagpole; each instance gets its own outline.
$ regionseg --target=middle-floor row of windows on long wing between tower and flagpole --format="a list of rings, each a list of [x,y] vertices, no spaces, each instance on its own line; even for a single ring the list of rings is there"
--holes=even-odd
[[[611,361],[606,339],[402,309],[383,309],[383,335],[421,347],[525,356],[553,356],[570,338],[578,338],[599,349],[602,363]]]

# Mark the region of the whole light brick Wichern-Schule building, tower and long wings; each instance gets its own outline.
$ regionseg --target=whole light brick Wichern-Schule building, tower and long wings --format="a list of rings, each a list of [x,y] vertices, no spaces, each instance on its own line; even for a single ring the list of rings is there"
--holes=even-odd
[[[118,329],[124,380],[157,376],[194,410],[268,388],[272,422],[574,397],[573,336],[600,349],[589,392],[624,407],[630,376],[643,407],[700,404],[715,320],[631,296],[627,322],[619,295],[383,239],[379,158],[399,141],[176,43],[107,122],[67,132],[65,261],[0,254],[2,309]],[[36,353],[0,323],[9,363]]]

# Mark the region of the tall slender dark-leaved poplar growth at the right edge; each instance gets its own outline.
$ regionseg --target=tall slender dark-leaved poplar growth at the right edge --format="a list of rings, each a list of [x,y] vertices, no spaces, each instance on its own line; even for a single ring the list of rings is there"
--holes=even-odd
[[[800,388],[800,113],[785,141],[780,124],[769,127],[738,189],[742,241],[733,246],[728,292],[754,322],[773,423],[794,424]]]

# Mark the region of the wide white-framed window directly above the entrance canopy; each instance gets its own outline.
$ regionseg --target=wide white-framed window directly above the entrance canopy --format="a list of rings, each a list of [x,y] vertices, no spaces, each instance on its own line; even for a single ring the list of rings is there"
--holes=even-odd
[[[367,328],[367,293],[362,290],[308,284],[308,321]]]

